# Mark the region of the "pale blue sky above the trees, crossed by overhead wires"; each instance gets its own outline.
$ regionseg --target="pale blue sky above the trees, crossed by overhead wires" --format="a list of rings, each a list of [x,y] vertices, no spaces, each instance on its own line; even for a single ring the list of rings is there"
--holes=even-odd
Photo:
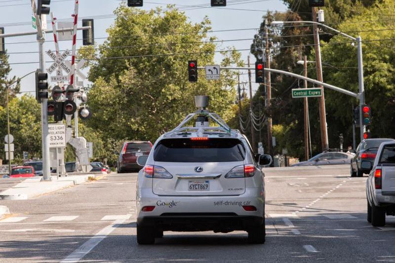
[[[119,6],[121,0],[79,0],[79,21],[78,26],[82,26],[82,18],[94,18],[94,34],[97,44],[102,43],[108,37],[106,29],[114,23],[113,11]],[[262,22],[262,16],[269,11],[285,11],[286,6],[281,0],[228,0],[226,7],[211,7],[210,0],[144,0],[145,10],[150,10],[158,6],[166,7],[167,4],[175,4],[176,7],[184,8],[185,14],[191,22],[198,23],[204,16],[212,22],[212,30],[245,29],[240,31],[214,32],[211,33],[218,39],[245,39],[253,38],[256,28]],[[51,12],[57,20],[69,19],[72,21],[71,14],[74,12],[75,0],[52,0],[50,5]],[[100,3],[100,4],[98,4]],[[200,5],[199,8],[188,7]],[[201,6],[203,5],[202,8]],[[48,30],[52,29],[50,16],[47,16]],[[32,10],[30,0],[0,0],[0,27],[4,27],[5,33],[33,32]],[[82,31],[78,31],[77,39],[82,38]],[[46,35],[44,50],[55,50],[53,34]],[[220,47],[235,46],[236,49],[249,49],[252,40],[230,41],[220,43]],[[82,40],[77,40],[77,49],[82,46]],[[9,54],[9,63],[12,71],[10,77],[22,77],[39,68],[39,45],[36,36],[12,37],[5,39],[5,48]],[[72,49],[72,41],[61,41],[59,48]],[[241,51],[242,59],[247,63],[249,51]],[[68,59],[70,59],[69,57]],[[50,66],[52,59],[45,54],[46,68]],[[219,64],[221,57],[216,56],[216,63]],[[15,64],[27,63],[29,64]],[[251,65],[255,63],[254,56],[251,55]],[[202,65],[199,65],[202,66]],[[86,73],[86,70],[85,70]],[[55,75],[55,73],[53,74]],[[201,75],[200,75],[201,76]],[[200,77],[199,76],[199,77]],[[240,81],[247,81],[248,75],[241,75]],[[254,79],[252,79],[254,82]],[[86,85],[88,82],[85,81]],[[51,83],[52,85],[55,83]],[[253,83],[255,92],[258,84]],[[28,75],[21,80],[21,91],[32,92],[35,95],[35,76]]]

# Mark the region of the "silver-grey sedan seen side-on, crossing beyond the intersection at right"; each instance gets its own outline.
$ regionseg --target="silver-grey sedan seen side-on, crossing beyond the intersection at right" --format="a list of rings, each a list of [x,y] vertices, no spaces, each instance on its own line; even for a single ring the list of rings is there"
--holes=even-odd
[[[292,166],[350,164],[353,156],[353,153],[341,151],[321,152],[307,161],[299,162]]]

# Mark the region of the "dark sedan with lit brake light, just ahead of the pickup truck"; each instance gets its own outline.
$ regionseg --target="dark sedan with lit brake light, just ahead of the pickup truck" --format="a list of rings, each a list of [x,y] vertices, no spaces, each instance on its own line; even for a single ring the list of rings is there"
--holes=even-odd
[[[356,148],[356,155],[351,160],[351,177],[362,177],[372,170],[374,159],[376,158],[379,146],[384,142],[394,141],[394,139],[366,139],[362,140]]]

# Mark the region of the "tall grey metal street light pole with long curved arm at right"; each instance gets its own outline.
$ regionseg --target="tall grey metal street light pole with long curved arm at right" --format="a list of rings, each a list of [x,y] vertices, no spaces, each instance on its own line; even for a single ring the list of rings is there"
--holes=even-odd
[[[364,91],[364,84],[363,84],[363,63],[362,63],[362,38],[360,36],[354,38],[351,37],[339,30],[336,30],[334,28],[331,28],[327,25],[321,24],[319,22],[315,21],[273,21],[272,25],[282,25],[282,24],[294,24],[294,23],[299,23],[299,24],[314,24],[314,25],[319,25],[321,27],[327,28],[329,30],[332,30],[343,37],[350,38],[353,41],[356,41],[357,43],[357,59],[358,59],[358,95],[359,95],[359,109],[361,109],[362,105],[365,104],[365,91]],[[320,51],[320,50],[319,50]],[[321,57],[321,54],[319,54],[319,57]],[[319,61],[321,63],[321,61]],[[360,118],[359,118],[359,125],[360,125],[360,139],[361,141],[363,140],[363,133],[366,131],[366,126],[362,122],[362,111],[359,111],[360,113]]]

